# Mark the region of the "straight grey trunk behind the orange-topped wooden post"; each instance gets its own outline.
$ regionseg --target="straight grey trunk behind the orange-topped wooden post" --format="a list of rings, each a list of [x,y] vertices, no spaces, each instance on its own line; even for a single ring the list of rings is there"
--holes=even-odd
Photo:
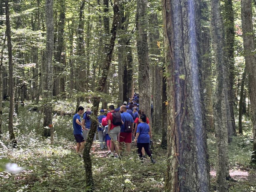
[[[46,18],[46,49],[45,49],[45,63],[43,66],[43,98],[46,99],[45,107],[43,109],[43,136],[50,136],[50,129],[48,126],[52,124],[52,56],[53,56],[53,0],[45,1],[45,18]]]

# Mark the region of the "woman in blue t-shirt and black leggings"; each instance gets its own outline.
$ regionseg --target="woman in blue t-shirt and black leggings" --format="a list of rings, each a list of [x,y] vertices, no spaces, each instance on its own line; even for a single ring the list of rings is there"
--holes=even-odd
[[[149,125],[146,124],[147,116],[145,114],[141,114],[139,118],[140,124],[138,124],[136,131],[135,143],[137,143],[138,154],[140,159],[143,160],[141,149],[144,147],[146,153],[151,159],[152,163],[155,163],[155,160],[152,158],[152,153],[149,150],[150,136],[149,136]]]

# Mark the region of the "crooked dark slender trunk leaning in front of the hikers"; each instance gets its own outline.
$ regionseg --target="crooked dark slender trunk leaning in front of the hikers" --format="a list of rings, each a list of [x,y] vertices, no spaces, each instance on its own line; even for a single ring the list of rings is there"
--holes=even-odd
[[[104,68],[102,70],[102,76],[101,79],[99,80],[99,86],[97,88],[97,91],[103,92],[105,88],[105,84],[107,82],[107,75],[110,67],[110,63],[112,60],[112,54],[115,46],[115,37],[116,37],[116,31],[117,31],[117,25],[118,25],[118,13],[119,13],[119,8],[118,8],[118,0],[114,0],[114,18],[113,18],[113,23],[112,23],[112,29],[110,31],[110,42],[109,42],[109,49],[107,52],[107,56],[104,59]],[[91,124],[91,129],[89,131],[88,139],[87,142],[85,143],[85,149],[83,153],[83,159],[84,159],[84,166],[85,166],[85,178],[86,178],[86,185],[87,186],[92,186],[93,188],[93,176],[92,176],[92,162],[90,158],[90,148],[93,143],[93,137],[97,129],[97,115],[98,115],[98,110],[99,110],[99,102],[100,102],[100,97],[94,97],[92,99],[93,101],[93,117],[92,117],[92,124]]]

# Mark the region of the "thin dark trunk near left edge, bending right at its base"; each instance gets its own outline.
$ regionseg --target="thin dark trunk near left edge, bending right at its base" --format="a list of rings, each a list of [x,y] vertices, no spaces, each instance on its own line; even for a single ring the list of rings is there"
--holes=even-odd
[[[5,15],[6,15],[6,36],[8,46],[8,58],[9,58],[9,93],[10,93],[10,110],[9,110],[9,123],[8,130],[10,135],[10,141],[15,147],[17,141],[13,132],[13,110],[14,110],[14,86],[13,86],[13,55],[12,55],[12,43],[11,43],[11,26],[10,26],[10,12],[8,0],[5,0]]]

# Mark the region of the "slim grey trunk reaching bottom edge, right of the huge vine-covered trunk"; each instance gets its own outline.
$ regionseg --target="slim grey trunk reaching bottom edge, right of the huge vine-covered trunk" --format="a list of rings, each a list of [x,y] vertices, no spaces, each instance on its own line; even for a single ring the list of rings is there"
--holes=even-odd
[[[217,191],[227,190],[226,177],[229,176],[228,167],[228,133],[226,100],[228,98],[227,82],[225,80],[226,64],[224,52],[223,22],[221,18],[220,0],[211,0],[211,27],[213,49],[216,65],[216,92],[213,107],[215,137],[217,145]]]

